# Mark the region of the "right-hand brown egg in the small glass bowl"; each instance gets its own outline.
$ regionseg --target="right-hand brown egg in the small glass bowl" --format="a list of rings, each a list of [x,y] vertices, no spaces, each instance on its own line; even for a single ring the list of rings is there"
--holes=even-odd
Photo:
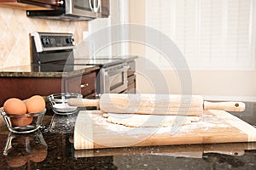
[[[26,109],[28,113],[37,113],[44,111],[45,100],[40,95],[34,95],[26,101]]]

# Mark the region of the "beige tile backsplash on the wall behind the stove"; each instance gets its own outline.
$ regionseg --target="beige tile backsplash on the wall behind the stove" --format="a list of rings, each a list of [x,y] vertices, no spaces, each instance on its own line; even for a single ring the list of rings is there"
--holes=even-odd
[[[0,68],[30,65],[29,33],[73,32],[77,43],[83,41],[83,31],[88,31],[87,21],[42,20],[26,17],[26,11],[0,8]]]

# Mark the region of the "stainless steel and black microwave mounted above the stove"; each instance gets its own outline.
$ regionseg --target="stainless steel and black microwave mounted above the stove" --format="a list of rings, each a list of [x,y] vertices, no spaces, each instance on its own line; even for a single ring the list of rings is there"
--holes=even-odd
[[[102,17],[109,0],[61,0],[55,10],[28,10],[26,15],[33,18],[53,20],[93,20]],[[106,14],[104,15],[106,16]]]

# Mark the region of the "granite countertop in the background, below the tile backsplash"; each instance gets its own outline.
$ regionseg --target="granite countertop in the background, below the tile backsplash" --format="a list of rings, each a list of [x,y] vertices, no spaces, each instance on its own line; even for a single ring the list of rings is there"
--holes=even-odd
[[[0,69],[0,77],[71,77],[100,69],[97,65],[74,65],[73,71],[32,71],[32,65],[20,65]]]

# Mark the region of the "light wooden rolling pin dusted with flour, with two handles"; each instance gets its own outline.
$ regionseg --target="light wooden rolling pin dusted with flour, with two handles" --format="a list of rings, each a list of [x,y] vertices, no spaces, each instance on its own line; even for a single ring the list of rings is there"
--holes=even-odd
[[[242,102],[207,102],[201,95],[102,94],[100,99],[69,99],[68,105],[96,106],[108,113],[201,116],[203,110],[244,111]]]

